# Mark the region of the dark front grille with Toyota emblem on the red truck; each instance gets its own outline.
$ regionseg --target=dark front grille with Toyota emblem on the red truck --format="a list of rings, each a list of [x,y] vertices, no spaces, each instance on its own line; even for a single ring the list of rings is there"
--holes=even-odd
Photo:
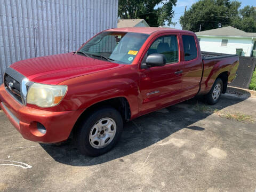
[[[5,74],[4,86],[5,86],[5,89],[9,91],[10,94],[12,94],[15,99],[17,99],[19,102],[22,103],[21,93],[20,93],[20,83],[16,79],[12,78],[8,74]]]

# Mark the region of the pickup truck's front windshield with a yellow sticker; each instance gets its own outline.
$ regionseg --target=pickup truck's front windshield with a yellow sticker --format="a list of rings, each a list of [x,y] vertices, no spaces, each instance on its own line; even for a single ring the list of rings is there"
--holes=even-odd
[[[130,64],[149,35],[103,32],[93,37],[77,52],[87,57]]]

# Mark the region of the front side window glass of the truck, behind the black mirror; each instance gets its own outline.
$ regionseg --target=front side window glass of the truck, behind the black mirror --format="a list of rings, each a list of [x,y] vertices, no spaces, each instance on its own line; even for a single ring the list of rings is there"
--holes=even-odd
[[[147,55],[161,53],[166,57],[166,63],[179,61],[179,49],[177,36],[168,35],[158,37],[149,47]]]

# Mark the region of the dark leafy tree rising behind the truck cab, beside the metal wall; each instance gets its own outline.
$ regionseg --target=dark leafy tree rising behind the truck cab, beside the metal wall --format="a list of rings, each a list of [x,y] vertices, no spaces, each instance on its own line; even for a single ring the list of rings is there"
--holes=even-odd
[[[173,18],[173,6],[177,0],[119,0],[118,17],[121,19],[145,19],[150,27],[170,26]],[[163,6],[154,9],[158,4]]]

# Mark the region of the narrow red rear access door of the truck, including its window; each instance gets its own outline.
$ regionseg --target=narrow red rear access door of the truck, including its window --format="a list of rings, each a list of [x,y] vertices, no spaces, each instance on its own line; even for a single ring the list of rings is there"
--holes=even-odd
[[[192,34],[182,34],[184,50],[184,66],[182,79],[182,93],[184,99],[194,97],[198,90],[203,73],[203,63],[198,41]]]

